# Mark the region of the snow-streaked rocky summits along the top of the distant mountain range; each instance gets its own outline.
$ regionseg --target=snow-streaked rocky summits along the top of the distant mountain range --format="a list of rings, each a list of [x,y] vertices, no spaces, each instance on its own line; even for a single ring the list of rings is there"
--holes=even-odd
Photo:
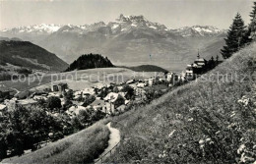
[[[167,28],[164,25],[159,23],[153,23],[148,21],[144,16],[124,16],[120,15],[115,21],[105,24],[103,22],[98,22],[92,25],[83,25],[83,26],[74,26],[74,25],[33,25],[28,27],[14,27],[9,29],[0,30],[4,33],[12,34],[23,34],[23,33],[32,33],[32,34],[51,34],[53,32],[72,32],[78,34],[87,34],[91,31],[98,31],[103,34],[118,34],[129,32],[131,30],[143,29],[149,30],[152,32],[158,32],[161,35],[167,35],[168,33],[175,33],[182,35],[183,37],[187,36],[213,36],[223,33],[224,30],[217,27],[211,26],[194,26],[194,27],[180,27],[180,28]]]

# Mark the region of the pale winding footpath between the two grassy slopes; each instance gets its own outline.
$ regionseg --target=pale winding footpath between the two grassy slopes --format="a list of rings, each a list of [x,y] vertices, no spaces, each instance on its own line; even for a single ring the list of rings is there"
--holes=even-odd
[[[115,148],[114,146],[120,141],[121,137],[120,137],[120,132],[117,129],[111,128],[110,126],[111,123],[108,123],[106,126],[110,131],[110,135],[109,135],[109,140],[108,140],[108,146],[105,148],[104,152],[102,154],[99,155],[99,157],[97,159],[95,159],[95,163],[99,164],[101,163],[101,161],[99,160],[100,157],[103,156],[103,158],[105,159],[106,157],[110,156],[109,151],[114,151]],[[114,149],[113,149],[114,148]],[[107,153],[107,154],[106,154]],[[105,155],[106,154],[106,155]]]

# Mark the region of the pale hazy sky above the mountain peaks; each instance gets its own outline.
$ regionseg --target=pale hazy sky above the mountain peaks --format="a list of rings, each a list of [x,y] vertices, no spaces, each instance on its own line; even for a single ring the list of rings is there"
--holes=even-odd
[[[166,27],[227,28],[237,12],[246,24],[253,0],[0,0],[0,28],[35,24],[85,25],[143,15]]]

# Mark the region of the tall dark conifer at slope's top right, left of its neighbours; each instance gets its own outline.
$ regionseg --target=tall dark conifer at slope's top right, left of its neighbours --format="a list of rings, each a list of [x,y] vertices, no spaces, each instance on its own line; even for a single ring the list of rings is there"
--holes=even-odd
[[[232,25],[227,31],[227,36],[224,38],[225,46],[221,50],[224,59],[229,58],[245,43],[245,26],[240,14],[236,14]]]

